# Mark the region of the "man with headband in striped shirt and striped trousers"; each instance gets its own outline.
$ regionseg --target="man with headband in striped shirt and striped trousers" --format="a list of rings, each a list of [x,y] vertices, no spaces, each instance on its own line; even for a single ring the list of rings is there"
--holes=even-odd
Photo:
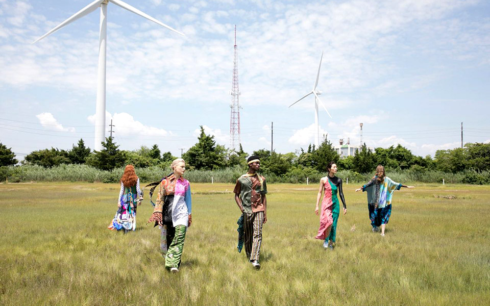
[[[249,171],[236,181],[235,201],[243,214],[243,243],[250,262],[260,269],[259,252],[262,243],[262,224],[267,222],[265,177],[257,174],[260,160],[256,155],[247,159]]]

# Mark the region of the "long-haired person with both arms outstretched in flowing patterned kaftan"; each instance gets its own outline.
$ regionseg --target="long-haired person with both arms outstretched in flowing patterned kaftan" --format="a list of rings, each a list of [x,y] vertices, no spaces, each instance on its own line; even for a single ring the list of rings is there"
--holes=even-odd
[[[373,179],[361,188],[356,189],[356,192],[360,190],[367,192],[367,205],[373,232],[378,232],[379,226],[381,226],[381,236],[384,236],[386,224],[391,216],[391,199],[393,198],[393,193],[402,187],[415,188],[414,186],[406,186],[394,182],[386,176],[384,167],[378,165],[376,167],[376,175]]]

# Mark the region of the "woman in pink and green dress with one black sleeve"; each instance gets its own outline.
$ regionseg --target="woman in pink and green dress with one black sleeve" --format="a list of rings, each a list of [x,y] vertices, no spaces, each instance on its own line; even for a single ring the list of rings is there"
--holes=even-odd
[[[315,238],[324,240],[323,247],[333,250],[337,236],[337,220],[340,213],[338,196],[340,196],[340,200],[344,206],[344,215],[347,213],[347,207],[346,200],[344,199],[344,192],[342,192],[342,180],[335,176],[337,173],[337,165],[334,162],[330,162],[327,166],[327,170],[328,175],[322,177],[320,180],[320,189],[316,196],[315,214],[318,216],[318,203],[320,203],[320,199],[322,198],[322,192],[325,191],[322,200],[320,228],[318,228],[318,234]]]

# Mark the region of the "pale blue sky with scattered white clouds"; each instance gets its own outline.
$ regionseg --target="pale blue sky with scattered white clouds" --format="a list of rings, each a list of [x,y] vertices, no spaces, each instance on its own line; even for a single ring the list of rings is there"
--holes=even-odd
[[[19,154],[93,148],[99,10],[35,39],[90,0],[0,0],[0,141]],[[427,1],[135,1],[182,37],[108,5],[107,124],[123,149],[180,156],[199,125],[229,146],[237,25],[241,142],[249,154],[313,143],[318,82],[333,119],[321,134],[416,155],[490,141],[490,3]],[[305,4],[307,3],[307,4]],[[107,127],[109,131],[109,126]],[[109,133],[106,134],[108,136]]]

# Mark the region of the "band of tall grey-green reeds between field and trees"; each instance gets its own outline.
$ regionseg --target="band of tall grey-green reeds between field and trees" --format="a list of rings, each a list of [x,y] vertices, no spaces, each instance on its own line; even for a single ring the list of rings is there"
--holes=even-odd
[[[0,181],[9,182],[102,182],[116,183],[122,175],[124,168],[116,168],[112,171],[103,171],[87,165],[60,165],[53,168],[43,168],[37,165],[0,167]],[[219,170],[188,170],[186,178],[195,183],[234,183],[245,172],[240,167],[230,167]],[[137,168],[137,175],[141,181],[158,181],[170,173],[170,168],[157,166]],[[423,182],[458,184],[490,184],[490,172],[466,170],[459,173],[446,173],[442,171],[414,171],[414,170],[388,170],[386,174],[396,182]],[[290,173],[275,175],[265,173],[268,183],[306,183],[320,182],[321,177],[327,173]],[[337,176],[349,183],[361,184],[369,181],[373,173],[357,173],[352,170],[339,170]]]

